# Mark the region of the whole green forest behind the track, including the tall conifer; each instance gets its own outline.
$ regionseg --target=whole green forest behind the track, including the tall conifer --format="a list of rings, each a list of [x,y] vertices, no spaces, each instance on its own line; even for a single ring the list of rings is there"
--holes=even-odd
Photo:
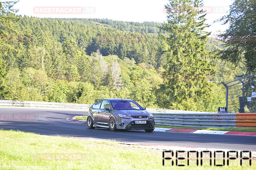
[[[122,97],[143,107],[216,112],[225,107],[221,81],[247,70],[243,60],[221,58],[227,47],[204,31],[204,12],[168,12],[200,6],[189,2],[167,4],[166,23],[22,17],[15,2],[0,3],[0,99]]]

